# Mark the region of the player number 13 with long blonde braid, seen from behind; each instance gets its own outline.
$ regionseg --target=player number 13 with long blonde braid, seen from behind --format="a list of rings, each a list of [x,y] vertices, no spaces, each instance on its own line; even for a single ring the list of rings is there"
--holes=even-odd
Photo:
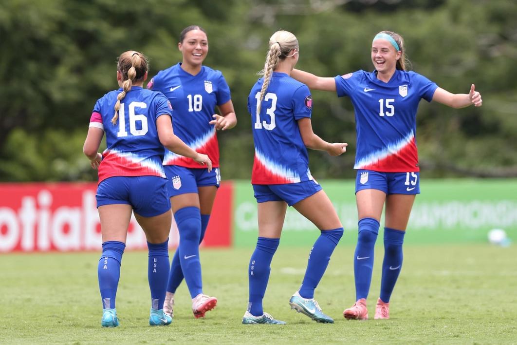
[[[249,303],[242,318],[244,324],[285,324],[264,312],[262,299],[287,205],[321,231],[309,253],[301,287],[289,304],[316,322],[334,322],[314,299],[314,289],[343,235],[343,226],[327,194],[311,175],[306,147],[339,156],[347,144],[328,143],[312,131],[309,88],[290,77],[298,56],[298,40],[292,33],[273,34],[261,73],[264,77],[248,96],[255,144],[251,183],[258,207],[258,239],[248,268]]]

